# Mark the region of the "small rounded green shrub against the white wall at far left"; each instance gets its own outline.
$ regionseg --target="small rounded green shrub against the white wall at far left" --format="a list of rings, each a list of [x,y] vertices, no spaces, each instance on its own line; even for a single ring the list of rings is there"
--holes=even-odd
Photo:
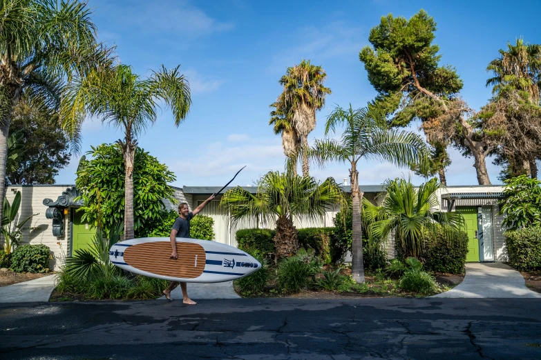
[[[15,272],[48,272],[50,249],[40,243],[17,246],[11,255],[10,269]]]

